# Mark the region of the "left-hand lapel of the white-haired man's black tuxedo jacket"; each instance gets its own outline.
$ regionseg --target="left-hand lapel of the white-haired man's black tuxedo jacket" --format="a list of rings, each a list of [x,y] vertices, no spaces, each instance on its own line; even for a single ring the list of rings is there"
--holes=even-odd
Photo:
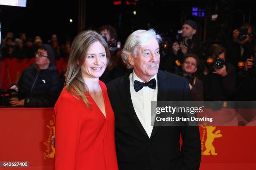
[[[145,129],[143,128],[143,126],[141,125],[141,122],[138,119],[136,112],[134,110],[134,107],[133,107],[133,102],[131,100],[129,75],[130,74],[126,74],[123,77],[123,79],[120,80],[118,90],[121,94],[121,98],[125,105],[125,110],[127,110],[128,114],[130,114],[130,116],[132,117],[133,121],[135,122],[135,124],[139,128],[139,130],[141,130],[141,132],[148,137],[148,135],[147,135]]]

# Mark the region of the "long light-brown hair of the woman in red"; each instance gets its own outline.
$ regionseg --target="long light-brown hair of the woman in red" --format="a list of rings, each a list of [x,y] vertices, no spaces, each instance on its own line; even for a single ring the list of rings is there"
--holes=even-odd
[[[88,87],[82,77],[82,65],[85,61],[87,50],[94,42],[100,42],[105,47],[107,58],[110,57],[108,43],[95,31],[87,30],[80,32],[72,42],[69,61],[67,65],[66,89],[73,95],[78,96],[89,107],[86,91]]]

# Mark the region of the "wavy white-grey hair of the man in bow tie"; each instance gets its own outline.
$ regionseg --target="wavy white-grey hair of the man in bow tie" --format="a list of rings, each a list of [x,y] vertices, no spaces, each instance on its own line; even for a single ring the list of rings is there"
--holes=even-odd
[[[156,34],[156,31],[153,29],[137,30],[128,36],[122,50],[122,59],[123,59],[123,62],[126,63],[128,68],[133,67],[128,60],[128,55],[133,55],[133,57],[136,58],[137,50],[139,50],[141,47],[145,45],[148,45],[148,43],[152,38],[155,38],[158,43],[160,43],[162,40],[161,35]],[[139,54],[140,54],[140,51],[139,51]]]

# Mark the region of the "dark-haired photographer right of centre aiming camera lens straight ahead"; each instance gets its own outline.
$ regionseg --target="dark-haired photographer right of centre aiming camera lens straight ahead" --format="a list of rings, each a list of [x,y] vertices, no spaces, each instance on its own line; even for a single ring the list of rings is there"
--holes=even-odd
[[[225,62],[225,52],[225,48],[219,44],[212,44],[208,49],[213,62],[205,67],[205,100],[233,100],[236,73],[235,67]]]

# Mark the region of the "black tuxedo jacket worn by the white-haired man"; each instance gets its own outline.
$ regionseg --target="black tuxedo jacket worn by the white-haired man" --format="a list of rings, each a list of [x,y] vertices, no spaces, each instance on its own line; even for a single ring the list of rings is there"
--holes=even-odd
[[[188,81],[159,70],[158,101],[190,100]],[[115,143],[120,170],[198,170],[201,160],[197,126],[154,126],[151,137],[134,111],[129,74],[107,84],[115,114]],[[151,114],[151,113],[148,113]],[[183,144],[180,151],[180,135]]]

